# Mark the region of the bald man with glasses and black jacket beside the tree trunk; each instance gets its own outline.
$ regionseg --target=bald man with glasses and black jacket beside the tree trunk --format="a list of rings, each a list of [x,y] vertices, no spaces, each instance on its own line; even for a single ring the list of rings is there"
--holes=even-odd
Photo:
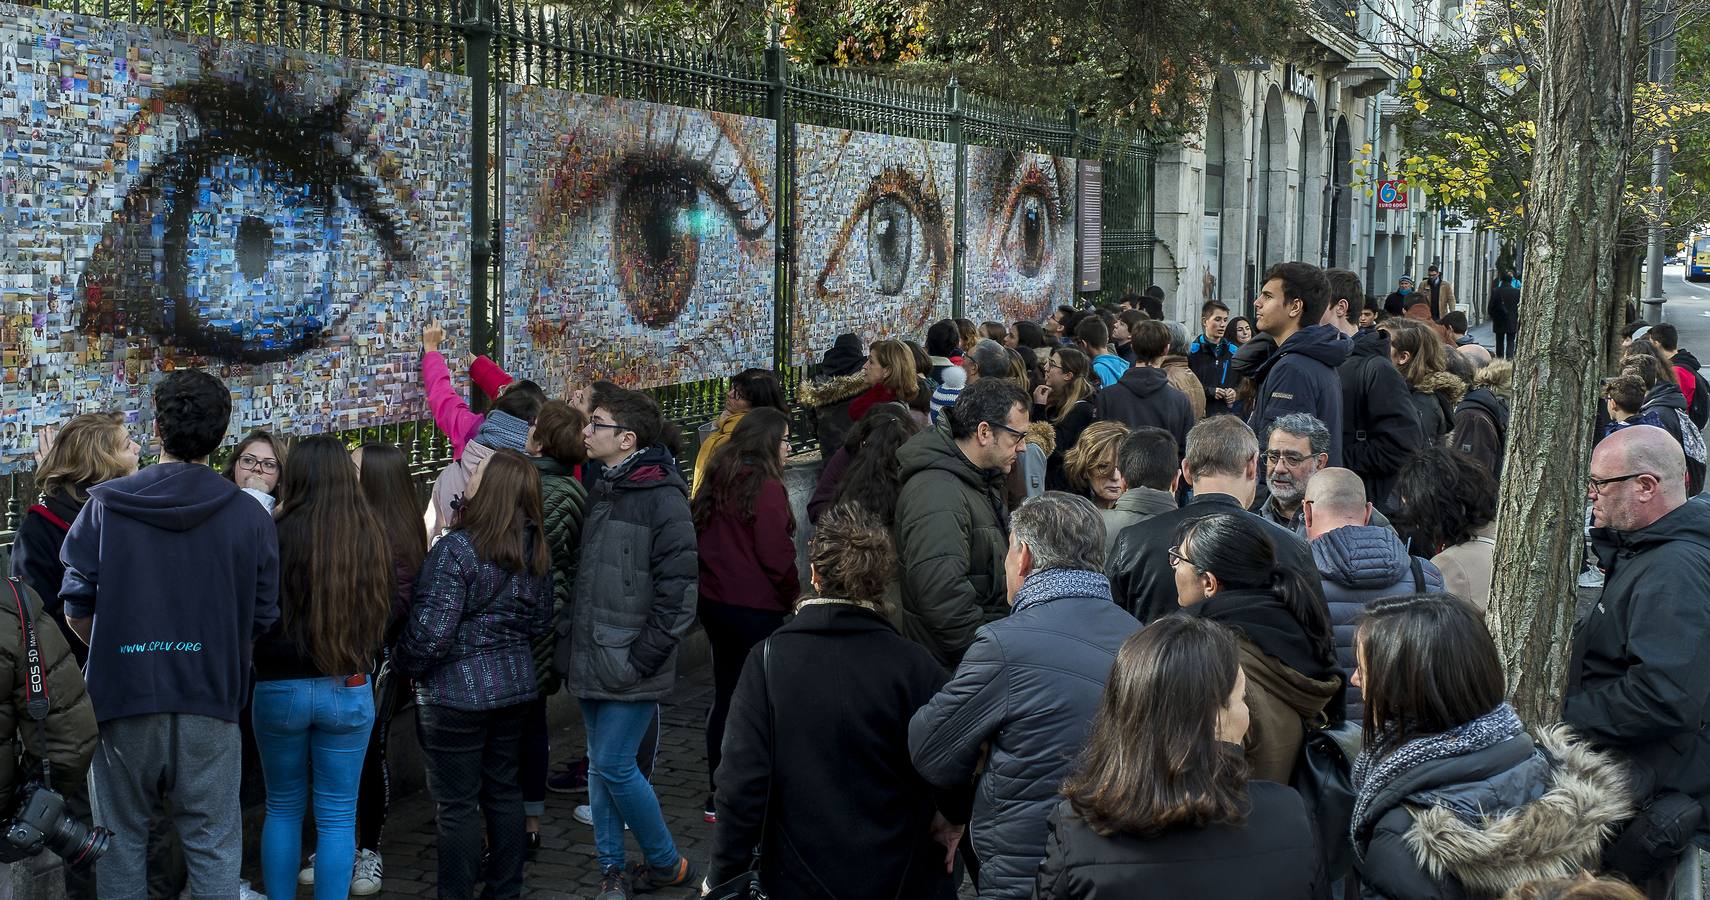
[[[1561,719],[1624,756],[1635,784],[1654,785],[1652,796],[1679,792],[1703,806],[1710,801],[1710,498],[1688,500],[1679,441],[1648,424],[1597,445],[1585,493],[1604,590],[1575,633]],[[1635,799],[1643,806],[1647,797]],[[1700,825],[1698,840],[1707,837]],[[1672,867],[1635,881],[1647,897],[1667,897]]]

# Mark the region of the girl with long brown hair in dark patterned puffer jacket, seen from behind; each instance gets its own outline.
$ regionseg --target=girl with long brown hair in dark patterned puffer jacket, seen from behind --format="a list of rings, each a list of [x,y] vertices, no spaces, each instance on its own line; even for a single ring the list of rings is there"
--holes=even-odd
[[[439,897],[474,897],[484,820],[487,895],[515,900],[527,857],[516,760],[539,693],[530,643],[552,626],[552,554],[528,457],[494,450],[462,496],[457,525],[416,580],[397,662],[416,678],[416,731],[438,806]]]

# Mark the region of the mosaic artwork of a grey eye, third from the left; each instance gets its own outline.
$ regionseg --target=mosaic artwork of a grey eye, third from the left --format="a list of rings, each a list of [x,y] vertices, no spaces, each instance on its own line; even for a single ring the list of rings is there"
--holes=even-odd
[[[836,335],[918,337],[954,289],[956,145],[795,127],[792,354]]]

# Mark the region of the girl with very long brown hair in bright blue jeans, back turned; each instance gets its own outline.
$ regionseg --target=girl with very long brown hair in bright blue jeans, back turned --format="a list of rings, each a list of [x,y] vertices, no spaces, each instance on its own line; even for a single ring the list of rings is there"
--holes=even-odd
[[[392,553],[356,465],[332,436],[292,448],[279,483],[279,623],[255,643],[255,743],[267,779],[262,878],[296,897],[315,782],[315,897],[342,900],[356,861],[356,794],[392,607]]]

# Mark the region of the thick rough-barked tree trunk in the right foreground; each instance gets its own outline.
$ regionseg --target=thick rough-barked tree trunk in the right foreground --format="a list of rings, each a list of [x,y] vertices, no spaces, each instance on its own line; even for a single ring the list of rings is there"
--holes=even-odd
[[[1515,409],[1496,515],[1491,631],[1520,719],[1561,717],[1585,471],[1618,286],[1640,0],[1553,0],[1527,200]]]

